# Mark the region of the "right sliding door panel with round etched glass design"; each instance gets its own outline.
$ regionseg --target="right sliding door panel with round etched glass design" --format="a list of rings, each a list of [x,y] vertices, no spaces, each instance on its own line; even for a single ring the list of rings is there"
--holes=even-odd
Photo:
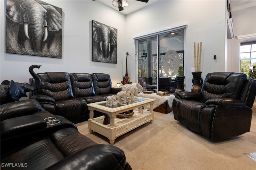
[[[173,93],[184,75],[184,29],[159,34],[158,90]]]

